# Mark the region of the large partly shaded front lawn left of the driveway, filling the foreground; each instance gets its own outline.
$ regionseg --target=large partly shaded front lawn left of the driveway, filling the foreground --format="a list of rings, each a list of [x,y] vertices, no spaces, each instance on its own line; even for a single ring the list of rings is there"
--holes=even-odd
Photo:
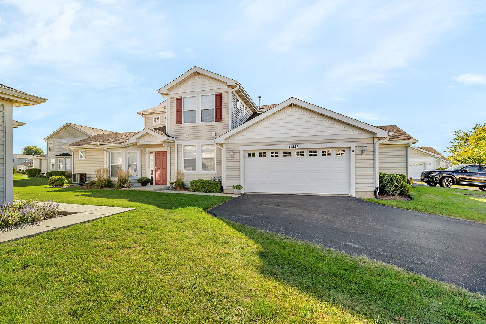
[[[486,300],[365,257],[227,222],[219,196],[45,188],[136,210],[0,244],[0,323],[484,323]]]

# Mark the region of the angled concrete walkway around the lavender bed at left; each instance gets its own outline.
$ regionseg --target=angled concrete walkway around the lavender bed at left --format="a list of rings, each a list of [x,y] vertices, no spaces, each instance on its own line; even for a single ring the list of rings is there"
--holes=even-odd
[[[73,224],[89,222],[97,218],[120,214],[133,209],[135,208],[59,204],[59,211],[61,213],[64,212],[72,214],[51,218],[40,222],[2,228],[0,229],[0,242],[25,238],[58,228],[67,227]]]

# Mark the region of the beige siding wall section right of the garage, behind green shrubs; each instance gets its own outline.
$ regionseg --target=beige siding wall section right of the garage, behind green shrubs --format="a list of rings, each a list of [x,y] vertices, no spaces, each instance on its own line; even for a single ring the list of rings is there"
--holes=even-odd
[[[378,149],[378,171],[407,176],[407,144],[380,144]]]

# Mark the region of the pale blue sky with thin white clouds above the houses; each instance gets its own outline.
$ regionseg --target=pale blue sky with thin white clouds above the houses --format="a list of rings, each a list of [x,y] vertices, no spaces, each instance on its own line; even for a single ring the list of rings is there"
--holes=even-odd
[[[484,1],[0,1],[0,83],[19,107],[14,153],[66,122],[138,131],[137,111],[193,66],[262,104],[296,97],[442,151],[486,121]]]

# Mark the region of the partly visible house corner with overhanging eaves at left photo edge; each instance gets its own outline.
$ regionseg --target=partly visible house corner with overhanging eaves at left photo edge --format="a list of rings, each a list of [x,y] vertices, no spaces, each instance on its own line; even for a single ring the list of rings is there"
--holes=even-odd
[[[23,125],[12,119],[14,107],[36,105],[47,99],[0,84],[0,204],[13,200],[12,128]]]

